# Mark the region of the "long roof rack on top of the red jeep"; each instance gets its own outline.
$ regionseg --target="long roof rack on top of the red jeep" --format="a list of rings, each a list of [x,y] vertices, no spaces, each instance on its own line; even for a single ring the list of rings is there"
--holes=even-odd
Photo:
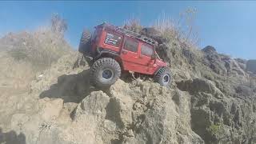
[[[141,40],[142,42],[146,42],[146,43],[148,43],[150,45],[153,45],[153,46],[158,46],[158,42],[156,42],[154,39],[146,37],[145,35],[142,35],[142,34],[134,33],[133,31],[130,31],[130,30],[123,29],[119,26],[110,25],[110,24],[107,24],[105,22],[102,23],[102,25],[99,25],[99,26],[110,27],[110,29],[114,29],[115,31],[118,31],[121,34],[126,34],[129,37],[137,38],[137,39]]]

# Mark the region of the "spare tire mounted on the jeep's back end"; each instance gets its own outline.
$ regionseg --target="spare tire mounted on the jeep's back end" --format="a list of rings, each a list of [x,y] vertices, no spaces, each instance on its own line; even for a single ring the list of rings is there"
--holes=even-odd
[[[78,51],[84,55],[89,55],[90,54],[90,46],[91,46],[91,42],[90,42],[90,31],[89,30],[83,30],[82,32],[82,36],[80,39],[80,43],[79,43],[79,47],[78,47]]]

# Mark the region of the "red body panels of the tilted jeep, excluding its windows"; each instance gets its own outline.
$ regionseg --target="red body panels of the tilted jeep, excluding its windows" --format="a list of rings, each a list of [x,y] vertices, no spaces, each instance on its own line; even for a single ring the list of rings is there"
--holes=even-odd
[[[130,38],[125,34],[118,34],[118,32],[115,32],[114,30],[111,30],[111,29],[107,29],[106,27],[101,28],[96,26],[95,31],[97,31],[97,34],[98,34],[98,41],[94,41],[92,43],[93,53],[97,50],[98,47],[104,50],[111,50],[114,52],[118,52],[122,60],[123,70],[134,71],[142,74],[154,74],[162,66],[167,66],[166,62],[162,62],[161,59],[158,59],[158,58],[154,59],[149,56],[141,54],[142,45],[147,45],[154,50],[153,46],[150,46],[145,42],[139,41],[138,39],[135,39],[135,38]],[[120,37],[121,42],[117,46],[106,44],[105,41],[106,41],[107,33],[118,35],[118,39]],[[132,52],[132,51],[123,49],[126,38],[132,39],[132,41],[138,42],[137,52]]]

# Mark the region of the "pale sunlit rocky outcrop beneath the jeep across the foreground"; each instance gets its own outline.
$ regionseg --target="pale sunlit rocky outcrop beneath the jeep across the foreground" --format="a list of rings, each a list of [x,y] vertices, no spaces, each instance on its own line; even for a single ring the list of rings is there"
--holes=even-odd
[[[42,98],[32,114],[14,114],[11,129],[26,143],[203,143],[190,128],[190,94],[157,83],[118,80],[92,91],[68,112]],[[66,118],[66,121],[63,121]]]

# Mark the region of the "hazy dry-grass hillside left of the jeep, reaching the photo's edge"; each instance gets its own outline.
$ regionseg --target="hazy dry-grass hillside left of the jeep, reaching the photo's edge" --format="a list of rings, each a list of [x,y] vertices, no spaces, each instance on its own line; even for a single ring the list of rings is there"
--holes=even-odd
[[[60,23],[54,26],[9,33],[0,38],[0,86],[27,89],[37,74],[70,54],[72,48],[63,35],[66,28],[60,28]]]

